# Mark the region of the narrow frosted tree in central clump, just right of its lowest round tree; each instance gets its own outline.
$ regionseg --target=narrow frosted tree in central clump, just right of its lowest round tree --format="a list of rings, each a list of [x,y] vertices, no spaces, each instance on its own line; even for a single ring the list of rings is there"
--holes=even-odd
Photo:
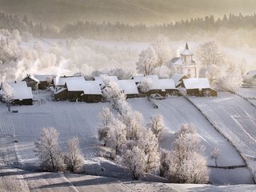
[[[145,172],[149,173],[157,170],[160,159],[160,154],[158,152],[158,138],[155,137],[151,130],[144,129],[140,132],[138,147],[144,150],[146,155]]]

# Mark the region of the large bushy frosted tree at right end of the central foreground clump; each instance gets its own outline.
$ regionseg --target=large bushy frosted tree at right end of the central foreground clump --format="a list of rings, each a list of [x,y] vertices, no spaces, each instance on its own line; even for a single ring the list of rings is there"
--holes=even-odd
[[[207,183],[210,170],[202,156],[203,149],[194,126],[183,124],[175,135],[170,153],[170,182]]]

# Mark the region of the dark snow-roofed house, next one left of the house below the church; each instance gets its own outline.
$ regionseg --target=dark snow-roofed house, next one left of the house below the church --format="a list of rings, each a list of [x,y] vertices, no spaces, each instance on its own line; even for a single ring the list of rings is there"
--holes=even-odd
[[[147,94],[159,94],[163,97],[167,95],[178,95],[178,89],[173,79],[158,79],[158,81],[153,82]]]

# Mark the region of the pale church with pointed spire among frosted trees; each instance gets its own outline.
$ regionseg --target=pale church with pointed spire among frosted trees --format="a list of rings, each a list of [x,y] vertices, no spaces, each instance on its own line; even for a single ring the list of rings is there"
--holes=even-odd
[[[179,58],[172,58],[168,66],[174,68],[176,73],[186,74],[188,78],[198,78],[197,64],[193,60],[193,53],[190,51],[189,46],[185,46]]]

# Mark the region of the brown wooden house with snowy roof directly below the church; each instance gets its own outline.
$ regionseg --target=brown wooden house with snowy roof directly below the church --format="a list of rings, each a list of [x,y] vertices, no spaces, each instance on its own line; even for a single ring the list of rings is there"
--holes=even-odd
[[[191,96],[217,96],[217,90],[210,88],[208,78],[186,78],[182,81],[186,94]]]

